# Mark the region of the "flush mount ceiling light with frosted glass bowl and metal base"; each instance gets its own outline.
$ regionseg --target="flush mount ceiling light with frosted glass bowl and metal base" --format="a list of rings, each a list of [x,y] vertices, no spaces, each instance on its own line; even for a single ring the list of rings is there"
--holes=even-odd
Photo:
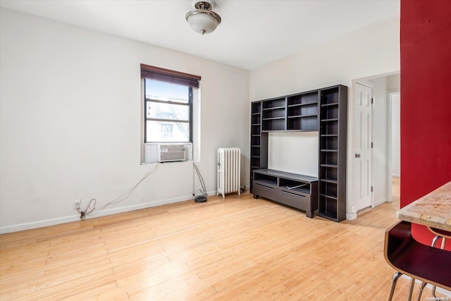
[[[186,20],[190,23],[191,28],[195,32],[206,33],[213,32],[216,27],[221,23],[221,17],[212,11],[215,6],[212,0],[194,0],[192,1],[194,11],[190,11],[186,14]]]

